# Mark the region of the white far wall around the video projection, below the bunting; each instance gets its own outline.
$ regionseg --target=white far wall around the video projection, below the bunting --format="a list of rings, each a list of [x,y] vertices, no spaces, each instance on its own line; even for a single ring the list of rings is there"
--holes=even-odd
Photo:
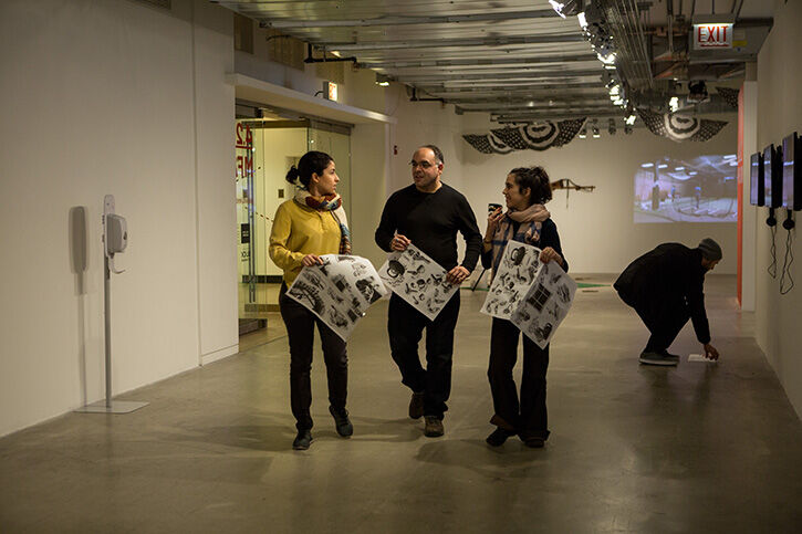
[[[633,259],[667,241],[696,247],[711,237],[723,249],[723,260],[717,272],[736,272],[735,223],[643,223],[633,222],[633,177],[639,165],[662,156],[691,158],[700,155],[736,154],[737,116],[707,143],[675,143],[657,137],[646,128],[635,128],[632,135],[593,139],[575,138],[561,148],[544,151],[521,150],[508,155],[483,155],[466,148],[462,161],[466,192],[486,227],[488,202],[503,203],[501,189],[507,174],[514,167],[542,165],[552,181],[571,178],[583,186],[596,186],[593,192],[554,191],[548,205],[560,231],[571,271],[576,273],[621,272]],[[482,128],[483,126],[483,128]],[[476,121],[472,132],[498,127]],[[466,144],[467,146],[467,144]]]

